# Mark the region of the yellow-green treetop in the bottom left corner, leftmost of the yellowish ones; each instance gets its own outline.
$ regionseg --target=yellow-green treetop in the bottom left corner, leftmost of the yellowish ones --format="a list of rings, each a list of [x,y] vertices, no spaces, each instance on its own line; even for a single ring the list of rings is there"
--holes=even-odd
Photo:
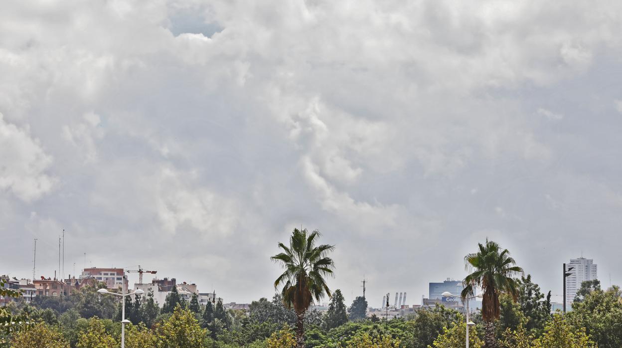
[[[39,321],[27,330],[16,332],[11,337],[12,348],[69,348],[69,342],[56,327]]]

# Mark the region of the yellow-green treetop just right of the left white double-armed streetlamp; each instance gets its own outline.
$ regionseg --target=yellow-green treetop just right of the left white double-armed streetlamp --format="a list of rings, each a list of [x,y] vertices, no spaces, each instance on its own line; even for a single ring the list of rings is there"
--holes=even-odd
[[[156,327],[158,348],[200,348],[207,337],[194,314],[180,304],[167,321]]]

